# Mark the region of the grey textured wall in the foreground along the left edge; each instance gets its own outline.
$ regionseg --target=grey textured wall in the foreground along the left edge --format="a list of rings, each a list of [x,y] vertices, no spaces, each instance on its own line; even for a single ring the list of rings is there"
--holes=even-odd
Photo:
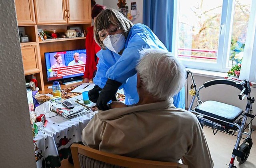
[[[0,162],[36,167],[14,0],[0,3]]]

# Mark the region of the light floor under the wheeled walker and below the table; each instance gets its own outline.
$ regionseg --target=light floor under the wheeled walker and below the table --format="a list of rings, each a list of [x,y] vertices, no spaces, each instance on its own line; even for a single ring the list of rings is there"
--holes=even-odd
[[[237,137],[222,132],[217,132],[214,135],[212,129],[206,127],[203,130],[214,161],[214,168],[228,168]],[[256,131],[252,132],[252,142],[254,145],[246,162],[239,164],[235,160],[237,168],[256,168]],[[62,160],[60,168],[74,168],[74,165],[70,164],[68,159],[65,159]]]

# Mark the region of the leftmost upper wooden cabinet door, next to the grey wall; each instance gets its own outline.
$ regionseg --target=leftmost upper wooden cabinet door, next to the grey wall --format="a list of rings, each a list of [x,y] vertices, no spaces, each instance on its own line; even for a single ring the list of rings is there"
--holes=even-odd
[[[36,24],[33,0],[15,0],[18,25]]]

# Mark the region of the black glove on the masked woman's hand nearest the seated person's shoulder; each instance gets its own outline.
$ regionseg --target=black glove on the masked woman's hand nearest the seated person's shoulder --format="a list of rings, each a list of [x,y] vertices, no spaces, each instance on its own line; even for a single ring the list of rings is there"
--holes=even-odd
[[[100,96],[97,101],[97,107],[100,110],[108,110],[110,109],[107,103],[112,100],[116,101],[116,92],[118,87],[120,87],[122,83],[118,81],[114,81],[112,79],[108,79],[106,85],[100,91]]]

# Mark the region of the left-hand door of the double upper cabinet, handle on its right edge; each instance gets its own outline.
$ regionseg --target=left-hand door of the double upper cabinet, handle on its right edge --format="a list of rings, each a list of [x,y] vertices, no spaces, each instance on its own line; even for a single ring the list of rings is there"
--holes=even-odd
[[[65,0],[34,0],[36,24],[65,24],[67,10]]]

